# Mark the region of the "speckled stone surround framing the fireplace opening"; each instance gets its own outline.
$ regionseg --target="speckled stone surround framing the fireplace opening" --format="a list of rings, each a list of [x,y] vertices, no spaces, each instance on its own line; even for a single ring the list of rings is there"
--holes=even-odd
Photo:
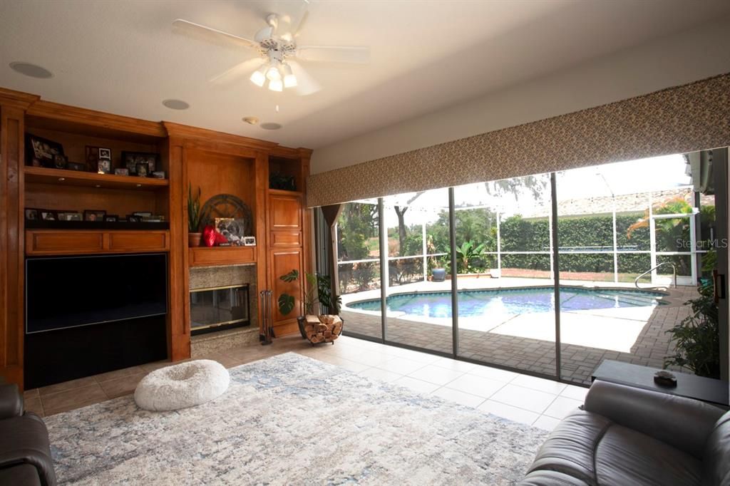
[[[200,334],[191,338],[191,358],[200,358],[245,344],[258,343],[258,285],[255,263],[190,269],[190,290],[248,284],[251,324],[243,328]]]

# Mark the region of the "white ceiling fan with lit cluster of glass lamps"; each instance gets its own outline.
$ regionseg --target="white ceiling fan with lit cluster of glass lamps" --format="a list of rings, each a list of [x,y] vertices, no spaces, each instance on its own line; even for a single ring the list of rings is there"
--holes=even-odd
[[[370,60],[369,47],[298,45],[296,39],[308,16],[306,7],[297,19],[288,15],[269,14],[266,16],[266,27],[256,32],[253,40],[201,26],[190,20],[177,19],[172,25],[178,34],[218,45],[258,51],[255,58],[219,74],[212,82],[232,81],[250,74],[249,80],[261,88],[268,81],[269,90],[294,88],[299,95],[308,95],[320,90],[320,85],[297,61],[366,64]]]

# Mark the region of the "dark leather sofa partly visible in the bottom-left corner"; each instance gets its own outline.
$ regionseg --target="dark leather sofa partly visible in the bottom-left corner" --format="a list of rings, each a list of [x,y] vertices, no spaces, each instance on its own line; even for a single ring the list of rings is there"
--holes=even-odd
[[[0,485],[55,484],[45,423],[37,414],[23,412],[16,385],[0,383]]]

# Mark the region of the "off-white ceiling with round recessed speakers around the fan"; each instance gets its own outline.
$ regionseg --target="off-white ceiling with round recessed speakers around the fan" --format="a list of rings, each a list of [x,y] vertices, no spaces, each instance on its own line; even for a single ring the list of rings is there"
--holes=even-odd
[[[316,149],[730,14],[727,0],[312,0],[299,44],[366,45],[372,61],[307,63],[323,86],[310,96],[272,93],[247,77],[213,84],[212,77],[254,53],[172,32],[172,21],[185,18],[253,38],[266,14],[300,6],[297,0],[0,0],[0,86]],[[24,77],[9,68],[12,61],[39,64],[54,77]],[[170,98],[191,108],[163,107]],[[283,128],[248,126],[245,116]]]

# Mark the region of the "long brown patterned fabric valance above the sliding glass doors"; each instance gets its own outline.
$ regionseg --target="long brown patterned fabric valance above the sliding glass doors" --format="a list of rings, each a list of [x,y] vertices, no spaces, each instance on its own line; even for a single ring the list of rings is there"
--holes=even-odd
[[[309,207],[730,145],[730,73],[312,175]]]

